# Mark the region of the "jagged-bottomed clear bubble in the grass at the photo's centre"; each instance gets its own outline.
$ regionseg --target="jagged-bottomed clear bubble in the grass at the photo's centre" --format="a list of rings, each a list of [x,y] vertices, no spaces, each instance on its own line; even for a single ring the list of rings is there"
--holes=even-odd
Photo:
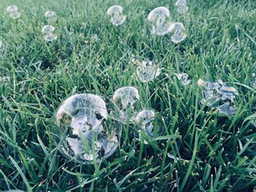
[[[142,82],[151,82],[158,77],[161,69],[151,61],[136,62],[137,75]]]

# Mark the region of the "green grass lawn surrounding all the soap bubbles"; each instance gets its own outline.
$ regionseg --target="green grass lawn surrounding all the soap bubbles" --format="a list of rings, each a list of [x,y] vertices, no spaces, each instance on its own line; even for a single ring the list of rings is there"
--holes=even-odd
[[[22,13],[18,20],[6,14],[11,4]],[[122,26],[106,17],[114,4],[127,15]],[[184,42],[150,34],[146,16],[157,6],[184,23]],[[180,15],[166,0],[0,0],[0,190],[253,191],[256,2],[188,0],[188,6]],[[43,40],[46,10],[58,15],[56,42]],[[140,82],[132,54],[158,61],[162,74]],[[190,86],[178,82],[179,72],[190,75]],[[198,104],[199,78],[238,90],[233,117]],[[124,125],[118,150],[103,162],[64,158],[53,140],[58,106],[72,94],[111,97],[122,86],[136,86],[140,106],[158,111],[162,138],[150,141],[142,133],[135,140]]]

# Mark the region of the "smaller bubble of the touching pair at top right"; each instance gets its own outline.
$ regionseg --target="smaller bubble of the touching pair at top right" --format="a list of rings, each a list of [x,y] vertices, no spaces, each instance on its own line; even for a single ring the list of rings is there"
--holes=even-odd
[[[174,43],[182,42],[186,38],[185,27],[181,22],[174,22],[170,26],[171,41]]]

